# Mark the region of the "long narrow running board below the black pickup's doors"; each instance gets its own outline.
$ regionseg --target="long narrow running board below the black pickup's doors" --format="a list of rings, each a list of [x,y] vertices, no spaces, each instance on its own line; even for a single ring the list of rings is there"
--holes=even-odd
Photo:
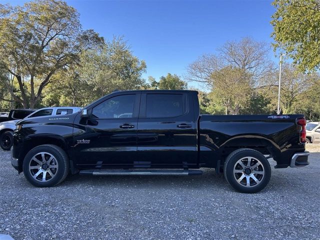
[[[81,175],[202,175],[201,170],[179,169],[84,169]]]

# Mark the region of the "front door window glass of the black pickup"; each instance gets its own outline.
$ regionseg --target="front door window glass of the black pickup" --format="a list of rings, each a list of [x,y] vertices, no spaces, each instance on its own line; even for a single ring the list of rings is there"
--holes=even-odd
[[[132,117],[135,94],[111,97],[92,109],[93,118]]]

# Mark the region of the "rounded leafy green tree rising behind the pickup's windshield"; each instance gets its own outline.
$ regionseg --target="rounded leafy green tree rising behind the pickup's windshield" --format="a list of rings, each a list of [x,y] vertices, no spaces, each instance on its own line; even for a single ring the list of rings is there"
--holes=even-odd
[[[144,84],[145,62],[133,55],[122,37],[114,37],[101,49],[83,51],[80,60],[80,80],[91,87],[93,99],[114,89],[130,90]]]

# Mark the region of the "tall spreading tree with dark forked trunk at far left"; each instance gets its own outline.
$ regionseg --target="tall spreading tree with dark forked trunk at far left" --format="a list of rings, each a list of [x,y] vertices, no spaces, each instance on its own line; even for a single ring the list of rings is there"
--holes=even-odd
[[[15,101],[34,107],[58,70],[78,62],[93,31],[81,31],[78,12],[64,1],[35,0],[0,5],[0,67],[14,76],[19,93],[3,81]],[[101,40],[101,38],[100,38]],[[27,84],[26,84],[27,82]],[[28,87],[26,87],[28,85]]]

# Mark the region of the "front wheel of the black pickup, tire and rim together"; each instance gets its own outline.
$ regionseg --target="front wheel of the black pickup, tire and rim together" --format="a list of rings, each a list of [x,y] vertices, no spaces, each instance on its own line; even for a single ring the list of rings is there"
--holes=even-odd
[[[65,179],[69,172],[69,161],[62,148],[45,144],[32,148],[25,155],[22,167],[25,178],[32,185],[49,187],[57,185]]]

